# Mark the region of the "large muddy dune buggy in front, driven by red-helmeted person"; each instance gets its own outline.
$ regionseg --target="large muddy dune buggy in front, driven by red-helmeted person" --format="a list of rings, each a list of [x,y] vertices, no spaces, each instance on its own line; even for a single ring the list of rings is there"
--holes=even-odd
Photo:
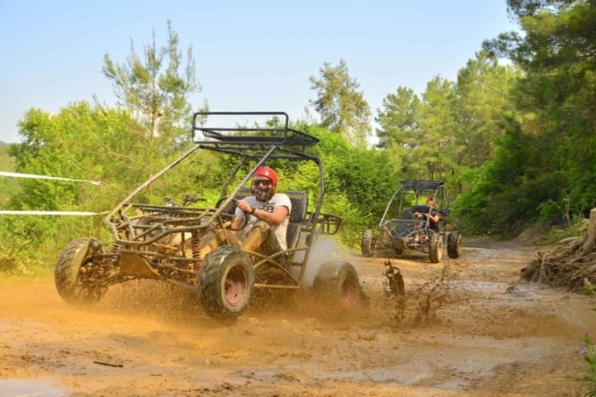
[[[270,118],[281,126],[240,127],[238,122],[232,126],[224,122],[207,124],[212,119],[222,121],[226,117]],[[66,302],[94,303],[110,285],[146,278],[187,287],[196,294],[208,315],[233,319],[251,303],[255,289],[298,291],[303,287],[311,247],[317,236],[334,234],[341,224],[338,216],[321,211],[325,195],[322,162],[307,152],[307,148],[319,140],[291,129],[284,112],[198,112],[194,115],[192,132],[194,146],[191,150],[142,183],[106,216],[104,222],[113,236],[109,247],[93,238],[82,238],[63,249],[56,263],[55,282]],[[166,172],[173,172],[179,164],[189,162],[189,157],[201,150],[237,160],[222,186],[220,199],[213,206],[196,207],[204,199],[191,196],[186,197],[182,206],[170,197],[163,205],[132,201],[153,181]],[[278,171],[279,164],[291,166],[292,162],[311,162],[318,169],[317,191],[286,191],[292,202],[288,248],[263,256],[258,252],[245,252],[227,240],[227,245],[217,247],[204,260],[200,259],[201,237],[208,230],[232,227],[236,200],[250,194],[251,175],[267,161],[275,162]],[[311,204],[309,197],[313,197]],[[186,205],[188,203],[191,205]],[[312,289],[325,295],[326,304],[353,308],[364,297],[357,272],[350,263],[326,259],[324,263],[311,266],[315,264],[319,267]]]

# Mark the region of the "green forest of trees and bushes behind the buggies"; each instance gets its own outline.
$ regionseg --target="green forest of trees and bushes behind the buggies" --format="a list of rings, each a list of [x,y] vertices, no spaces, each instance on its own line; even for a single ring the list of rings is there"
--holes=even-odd
[[[345,247],[379,223],[402,179],[445,181],[452,225],[464,235],[572,226],[596,207],[596,1],[507,0],[507,8],[518,32],[484,41],[455,82],[434,77],[421,94],[396,87],[375,114],[344,60],[305,82],[316,93],[313,113],[291,126],[320,139],[310,150],[324,164],[323,211],[343,218]],[[131,46],[121,62],[104,57],[117,105],[75,100],[56,115],[31,108],[21,143],[0,145],[0,169],[101,186],[0,178],[2,209],[105,211],[189,148],[192,114],[208,101],[189,105],[201,91],[192,48],[167,27],[165,44],[153,32],[140,53]],[[215,202],[225,161],[205,154],[141,200]],[[281,171],[279,188],[309,186],[308,175]],[[101,216],[1,219],[0,271],[11,274],[51,270],[71,240],[105,237]]]

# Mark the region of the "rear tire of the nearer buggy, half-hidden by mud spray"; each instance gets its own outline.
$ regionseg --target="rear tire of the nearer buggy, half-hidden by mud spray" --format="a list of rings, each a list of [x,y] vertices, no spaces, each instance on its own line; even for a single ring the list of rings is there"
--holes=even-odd
[[[321,265],[312,287],[327,306],[350,310],[360,304],[362,290],[354,266],[346,261],[328,261]]]

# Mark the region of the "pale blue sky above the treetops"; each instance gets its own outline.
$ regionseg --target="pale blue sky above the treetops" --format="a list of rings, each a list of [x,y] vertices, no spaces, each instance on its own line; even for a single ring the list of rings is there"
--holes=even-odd
[[[165,45],[168,19],[194,48],[194,108],[206,99],[213,111],[291,119],[305,116],[309,77],[325,62],[345,60],[376,115],[398,86],[455,80],[484,39],[515,29],[505,0],[0,0],[0,141],[20,141],[30,108],[58,112],[94,94],[113,105],[104,54],[125,63],[130,41],[141,52],[153,29]]]

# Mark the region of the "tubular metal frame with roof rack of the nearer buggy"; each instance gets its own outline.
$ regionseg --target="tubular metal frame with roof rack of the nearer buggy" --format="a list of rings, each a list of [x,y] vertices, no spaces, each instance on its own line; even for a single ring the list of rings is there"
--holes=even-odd
[[[241,122],[232,125],[224,122],[212,124],[211,121],[218,117],[264,117],[273,122],[265,126],[245,126]],[[195,275],[201,266],[201,260],[196,255],[198,237],[210,228],[224,228],[224,223],[232,219],[233,211],[229,211],[230,206],[233,206],[234,200],[243,196],[243,189],[246,189],[258,167],[272,160],[288,160],[313,162],[318,169],[318,192],[308,195],[315,200],[314,204],[305,211],[303,219],[293,222],[298,226],[298,240],[301,243],[274,256],[251,254],[257,257],[255,268],[265,264],[283,268],[279,261],[281,256],[290,258],[290,266],[282,269],[286,273],[287,282],[282,285],[257,283],[255,287],[300,287],[315,235],[334,234],[341,224],[338,216],[322,213],[324,170],[319,157],[307,152],[307,148],[318,143],[319,139],[289,127],[289,117],[285,112],[196,112],[193,117],[192,141],[194,145],[190,150],[148,178],[106,216],[104,222],[113,235],[115,245],[111,252],[101,256],[120,265],[120,272],[110,278],[108,284],[130,278],[156,278],[175,280],[184,286],[194,287],[197,282]],[[222,186],[216,207],[177,207],[132,201],[151,183],[199,150],[220,152],[238,158]],[[246,171],[249,164],[252,167],[246,172],[246,176],[241,177],[241,172]],[[236,182],[238,179],[240,181]],[[181,252],[173,252],[167,247],[175,236],[178,245],[182,247]],[[186,248],[188,246],[190,247]]]

